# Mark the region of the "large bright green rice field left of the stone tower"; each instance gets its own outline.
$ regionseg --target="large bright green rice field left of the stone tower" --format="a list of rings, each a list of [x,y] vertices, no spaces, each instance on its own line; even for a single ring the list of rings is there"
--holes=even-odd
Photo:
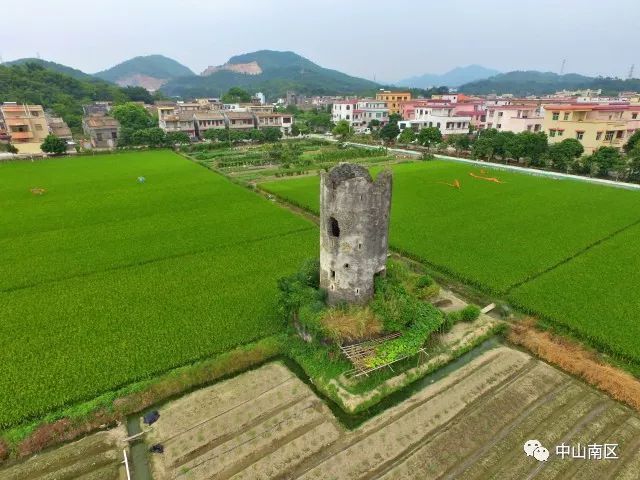
[[[278,332],[318,235],[165,151],[1,164],[0,210],[0,427]]]

